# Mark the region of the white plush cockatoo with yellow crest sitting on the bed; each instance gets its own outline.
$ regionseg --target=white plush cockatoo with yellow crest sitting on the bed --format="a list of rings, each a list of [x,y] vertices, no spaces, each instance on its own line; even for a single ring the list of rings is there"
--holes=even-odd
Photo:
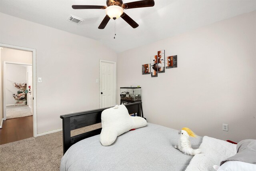
[[[181,129],[181,131],[179,131],[179,134],[179,144],[175,145],[174,148],[179,149],[181,152],[188,155],[196,155],[201,153],[200,149],[191,148],[191,144],[188,138],[189,136],[196,137],[196,134],[193,131],[191,131],[189,128],[184,127]]]

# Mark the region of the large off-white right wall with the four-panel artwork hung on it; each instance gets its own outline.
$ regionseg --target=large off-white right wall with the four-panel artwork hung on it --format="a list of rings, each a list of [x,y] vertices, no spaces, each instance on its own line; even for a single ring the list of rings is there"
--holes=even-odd
[[[158,50],[178,55],[178,68],[142,75]],[[224,140],[256,139],[255,11],[122,52],[117,71],[118,87],[142,87],[148,122]]]

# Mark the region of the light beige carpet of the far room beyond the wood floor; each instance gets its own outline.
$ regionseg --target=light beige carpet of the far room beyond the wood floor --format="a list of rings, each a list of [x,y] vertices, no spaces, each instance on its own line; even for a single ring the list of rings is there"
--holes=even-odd
[[[32,113],[28,105],[6,106],[6,119],[31,116],[31,115]]]

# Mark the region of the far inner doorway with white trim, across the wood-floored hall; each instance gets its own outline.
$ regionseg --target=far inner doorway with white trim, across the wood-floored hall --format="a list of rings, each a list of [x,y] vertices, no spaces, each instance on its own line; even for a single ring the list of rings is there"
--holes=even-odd
[[[16,52],[17,53],[17,52]],[[32,53],[22,52],[20,58],[31,58],[29,64],[4,61],[4,118],[33,115]],[[22,59],[24,60],[24,59]]]

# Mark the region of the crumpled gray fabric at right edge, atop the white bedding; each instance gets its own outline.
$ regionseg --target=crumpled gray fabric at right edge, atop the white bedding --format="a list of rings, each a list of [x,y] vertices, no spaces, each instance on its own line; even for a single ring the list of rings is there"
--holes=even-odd
[[[229,160],[256,163],[256,139],[245,139],[240,141],[236,146],[236,151],[236,155],[220,162],[220,165]]]

